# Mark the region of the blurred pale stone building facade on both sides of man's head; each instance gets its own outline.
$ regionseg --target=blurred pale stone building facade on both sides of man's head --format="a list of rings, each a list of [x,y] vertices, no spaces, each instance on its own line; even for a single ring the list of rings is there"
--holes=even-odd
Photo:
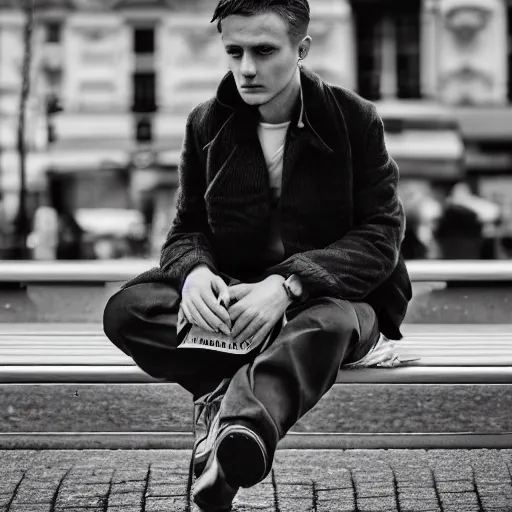
[[[351,4],[359,1],[311,1],[313,45],[306,65],[351,89],[357,85],[358,52]],[[2,180],[10,175],[5,160],[15,147],[23,26],[19,5],[19,0],[0,0]],[[132,112],[136,74],[154,75],[156,111],[146,117],[152,127],[156,161],[175,163],[187,113],[214,93],[227,70],[220,38],[209,24],[215,2],[35,0],[35,5],[38,23],[29,138],[38,156],[31,157],[29,168],[35,168],[32,160],[37,159],[57,167],[80,162],[98,167],[109,160],[107,149],[100,155],[100,147],[112,148],[111,163],[127,165],[140,117]],[[423,0],[420,62],[424,98],[454,105],[507,102],[505,5],[505,0]],[[134,52],[134,31],[140,27],[154,30],[151,55]],[[54,30],[51,37],[50,30]],[[379,71],[384,78],[391,75],[385,69]],[[386,91],[395,91],[396,84],[392,87],[388,82],[381,80],[381,87],[387,84]],[[52,95],[64,110],[54,116],[56,143],[47,152],[45,110]],[[77,151],[93,147],[98,152],[96,163],[92,156],[73,156],[73,147]]]

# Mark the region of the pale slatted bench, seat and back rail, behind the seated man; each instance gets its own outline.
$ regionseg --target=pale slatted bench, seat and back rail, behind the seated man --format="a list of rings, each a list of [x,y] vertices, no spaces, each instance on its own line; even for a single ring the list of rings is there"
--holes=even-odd
[[[121,282],[156,263],[148,260],[0,263],[0,282]],[[512,261],[411,261],[414,283],[512,282]],[[418,362],[399,368],[341,370],[338,382],[512,383],[511,325],[410,324],[399,353]],[[104,336],[98,324],[0,324],[2,382],[154,382]]]

